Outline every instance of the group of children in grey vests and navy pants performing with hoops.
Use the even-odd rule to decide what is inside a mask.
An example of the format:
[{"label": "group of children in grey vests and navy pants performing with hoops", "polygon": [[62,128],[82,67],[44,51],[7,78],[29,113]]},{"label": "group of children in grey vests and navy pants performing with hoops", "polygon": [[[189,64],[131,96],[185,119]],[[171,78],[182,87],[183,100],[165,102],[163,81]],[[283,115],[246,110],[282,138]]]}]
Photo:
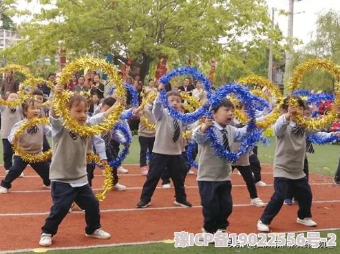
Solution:
[{"label": "group of children in grey vests and navy pants performing with hoops", "polygon": [[[55,85],[54,93],[63,91],[62,85]],[[165,89],[160,84],[158,89]],[[21,176],[28,165],[19,155],[14,155],[12,163],[12,148],[14,132],[25,121],[39,116],[46,116],[47,110],[41,107],[41,94],[36,92],[34,99],[25,100],[22,107],[1,107],[1,137],[3,138],[4,163],[8,173],[1,181],[0,193],[7,193],[12,182]],[[8,100],[17,99],[17,94],[8,94]],[[182,98],[177,91],[167,93],[167,99],[171,107],[178,112],[183,112]],[[264,212],[257,222],[259,231],[269,231],[269,224],[275,218],[285,200],[293,197],[299,204],[297,222],[306,226],[315,226],[311,217],[312,192],[308,184],[306,171],[306,137],[311,131],[305,130],[295,123],[295,114],[304,114],[305,105],[301,98],[296,98],[299,107],[288,105],[288,98],[284,100],[282,114],[274,125],[277,148],[274,162],[274,189],[272,198],[266,205]],[[80,125],[97,125],[111,112],[118,103],[126,103],[125,98],[109,96],[103,98],[94,109],[93,116],[89,117],[87,99],[79,94],[74,95],[67,107],[70,110],[70,118]],[[245,106],[246,107],[246,106]],[[231,173],[237,168],[244,181],[251,198],[251,204],[256,207],[264,207],[265,204],[257,196],[256,186],[265,186],[260,178],[260,166],[256,151],[249,150],[247,154],[239,158],[235,165],[215,155],[211,142],[206,134],[207,129],[213,128],[215,136],[228,151],[235,151],[242,139],[248,135],[247,127],[237,123],[233,111],[235,107],[231,100],[224,98],[219,105],[211,109],[213,118],[202,118],[199,122],[184,125],[180,120],[173,118],[164,108],[160,97],[145,105],[128,109],[134,115],[144,116],[150,124],[156,125],[156,130],[145,126],[140,122],[138,140],[140,143],[140,169],[147,176],[142,188],[140,201],[137,207],[142,209],[151,204],[151,198],[156,190],[160,178],[171,178],[175,189],[176,198],[174,204],[180,207],[192,207],[187,200],[185,191],[185,178],[190,169],[187,164],[185,147],[187,140],[182,134],[187,129],[193,130],[192,139],[198,143],[198,189],[202,204],[204,218],[202,231],[216,233],[226,231],[229,226],[229,215],[233,210],[231,197]],[[307,112],[307,111],[306,111]],[[339,111],[340,112],[340,111]],[[75,202],[85,211],[87,237],[108,239],[109,233],[103,231],[100,225],[99,202],[91,189],[94,177],[94,165],[87,161],[86,155],[96,152],[100,156],[102,165],[107,165],[109,160],[116,158],[119,145],[128,146],[126,139],[118,131],[108,131],[105,134],[84,138],[65,129],[63,119],[57,116],[51,107],[48,113],[50,125],[34,125],[27,129],[18,142],[23,151],[28,154],[39,154],[50,149],[46,136],[53,140],[52,160],[46,162],[30,163],[36,173],[43,180],[43,187],[51,189],[53,206],[50,215],[45,220],[41,230],[41,246],[50,246],[52,237],[58,231],[59,224]],[[125,123],[126,124],[126,123]],[[317,136],[340,136],[339,133],[326,134],[313,132]],[[47,144],[46,144],[47,143]],[[45,144],[45,145],[44,145]],[[306,148],[307,147],[307,148]],[[309,150],[309,149],[308,149]],[[149,168],[147,167],[147,152],[150,154]],[[12,153],[12,154],[11,154]],[[252,158],[253,156],[253,158]],[[78,158],[78,160],[74,160]],[[251,167],[251,164],[255,167]],[[253,170],[255,168],[256,170]],[[308,171],[307,171],[308,172]],[[117,168],[112,171],[114,175],[114,188],[125,189],[118,184]],[[307,175],[307,176],[306,176]]]}]

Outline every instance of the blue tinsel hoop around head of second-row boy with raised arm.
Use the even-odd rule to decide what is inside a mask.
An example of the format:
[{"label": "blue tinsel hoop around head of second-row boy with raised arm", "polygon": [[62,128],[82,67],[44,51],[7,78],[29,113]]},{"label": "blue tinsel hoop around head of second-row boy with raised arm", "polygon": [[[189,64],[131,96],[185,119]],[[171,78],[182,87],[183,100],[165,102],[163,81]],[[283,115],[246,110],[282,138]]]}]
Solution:
[{"label": "blue tinsel hoop around head of second-row boy with raised arm", "polygon": [[[211,83],[204,74],[198,72],[195,67],[180,67],[177,69],[168,72],[164,76],[160,78],[160,83],[167,84],[170,83],[171,79],[175,76],[192,76],[195,80],[201,81],[204,89],[206,90],[206,96],[208,100],[213,96],[213,90],[211,89]],[[160,101],[167,108],[171,117],[176,118],[183,123],[194,123],[201,116],[204,116],[209,109],[209,105],[202,105],[199,109],[197,109],[193,113],[182,114],[178,112],[176,109],[173,109],[168,102],[167,93],[164,89],[160,90]]]}]

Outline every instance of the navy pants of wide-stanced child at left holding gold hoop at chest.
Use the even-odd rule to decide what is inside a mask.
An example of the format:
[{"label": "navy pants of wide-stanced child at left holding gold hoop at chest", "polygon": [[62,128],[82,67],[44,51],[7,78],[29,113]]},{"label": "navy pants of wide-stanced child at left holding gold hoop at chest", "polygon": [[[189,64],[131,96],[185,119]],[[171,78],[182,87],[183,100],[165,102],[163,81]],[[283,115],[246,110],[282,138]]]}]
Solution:
[{"label": "navy pants of wide-stanced child at left holding gold hoop at chest", "polygon": [[[1,186],[10,189],[12,182],[19,178],[28,164],[29,163],[22,160],[21,157],[14,156],[13,166],[8,171],[6,178],[1,181]],[[41,179],[43,179],[43,184],[50,186],[50,165],[47,162],[30,163],[30,165]]]}]

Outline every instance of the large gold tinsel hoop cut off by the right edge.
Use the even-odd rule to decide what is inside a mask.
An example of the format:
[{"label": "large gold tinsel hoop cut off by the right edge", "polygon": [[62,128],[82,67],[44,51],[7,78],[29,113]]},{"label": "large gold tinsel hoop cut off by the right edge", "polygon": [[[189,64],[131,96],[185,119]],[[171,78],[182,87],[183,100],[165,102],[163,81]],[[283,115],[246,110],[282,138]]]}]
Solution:
[{"label": "large gold tinsel hoop cut off by the right edge", "polygon": [[[288,90],[293,94],[295,89],[299,87],[302,79],[310,70],[324,70],[328,72],[334,78],[334,102],[330,111],[323,118],[311,118],[306,119],[301,116],[301,114],[295,114],[293,119],[305,127],[306,129],[323,129],[337,121],[337,112],[335,109],[340,107],[340,67],[335,63],[323,59],[310,59],[295,67],[292,77],[290,78],[290,83],[288,84]],[[290,98],[290,105],[297,105],[294,98]]]}]

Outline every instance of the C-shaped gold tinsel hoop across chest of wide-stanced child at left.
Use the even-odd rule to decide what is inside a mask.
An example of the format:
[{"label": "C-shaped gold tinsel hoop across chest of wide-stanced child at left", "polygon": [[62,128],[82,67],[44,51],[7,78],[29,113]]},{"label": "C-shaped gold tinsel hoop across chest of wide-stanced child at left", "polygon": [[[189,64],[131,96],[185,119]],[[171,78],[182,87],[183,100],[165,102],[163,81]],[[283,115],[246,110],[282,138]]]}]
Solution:
[{"label": "C-shaped gold tinsel hoop across chest of wide-stanced child at left", "polygon": [[51,158],[52,150],[48,150],[45,152],[41,152],[39,154],[28,154],[28,152],[23,151],[19,146],[19,138],[25,131],[25,129],[32,127],[34,125],[49,125],[50,120],[48,118],[33,118],[28,120],[27,122],[22,123],[19,128],[14,132],[14,140],[13,140],[13,150],[15,154],[20,156],[25,162],[28,163],[36,163],[36,162],[43,162],[47,159]]}]

